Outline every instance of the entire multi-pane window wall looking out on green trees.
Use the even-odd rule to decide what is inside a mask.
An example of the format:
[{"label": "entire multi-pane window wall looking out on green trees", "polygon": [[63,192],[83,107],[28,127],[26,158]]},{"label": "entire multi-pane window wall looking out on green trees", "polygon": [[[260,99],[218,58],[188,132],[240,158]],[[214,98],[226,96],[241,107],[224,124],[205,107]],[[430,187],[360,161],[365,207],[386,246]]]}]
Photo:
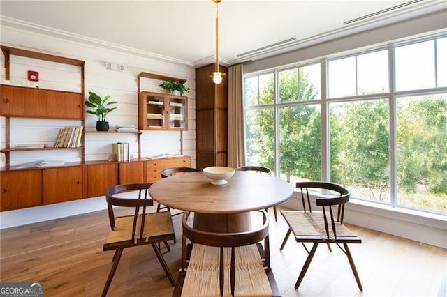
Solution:
[{"label": "entire multi-pane window wall looking out on green trees", "polygon": [[447,37],[436,36],[249,75],[247,164],[447,213],[446,65]]}]

